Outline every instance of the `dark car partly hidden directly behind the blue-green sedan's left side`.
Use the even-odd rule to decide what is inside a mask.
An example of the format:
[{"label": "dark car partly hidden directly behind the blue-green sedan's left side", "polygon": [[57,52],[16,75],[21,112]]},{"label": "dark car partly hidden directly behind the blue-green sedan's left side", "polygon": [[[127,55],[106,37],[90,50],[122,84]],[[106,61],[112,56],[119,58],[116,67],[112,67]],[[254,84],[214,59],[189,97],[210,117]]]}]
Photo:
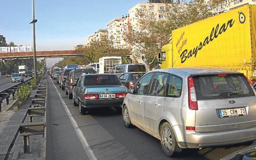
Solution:
[{"label": "dark car partly hidden directly behind the blue-green sedan's left side", "polygon": [[74,69],[69,73],[69,76],[66,79],[66,95],[68,95],[69,99],[72,99],[73,95],[72,95],[72,91],[73,91],[73,82],[75,82],[77,80],[77,78],[81,75],[81,74],[94,74],[96,73],[95,70],[93,69]]}]

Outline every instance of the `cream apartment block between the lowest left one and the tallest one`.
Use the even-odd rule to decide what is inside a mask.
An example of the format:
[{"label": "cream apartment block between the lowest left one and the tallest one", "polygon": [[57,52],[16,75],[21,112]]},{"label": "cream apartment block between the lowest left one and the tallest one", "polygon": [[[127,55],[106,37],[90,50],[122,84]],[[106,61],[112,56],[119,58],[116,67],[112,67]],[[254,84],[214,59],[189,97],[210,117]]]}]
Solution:
[{"label": "cream apartment block between the lowest left one and the tallest one", "polygon": [[115,18],[106,24],[108,27],[108,39],[113,41],[114,48],[120,47],[120,21],[121,18]]}]

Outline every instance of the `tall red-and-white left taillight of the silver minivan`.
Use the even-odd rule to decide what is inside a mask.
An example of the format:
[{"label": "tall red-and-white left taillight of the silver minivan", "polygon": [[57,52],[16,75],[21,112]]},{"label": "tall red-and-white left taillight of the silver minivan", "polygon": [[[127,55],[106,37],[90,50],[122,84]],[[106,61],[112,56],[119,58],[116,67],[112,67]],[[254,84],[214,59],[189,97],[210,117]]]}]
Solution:
[{"label": "tall red-and-white left taillight of the silver minivan", "polygon": [[189,76],[187,79],[188,79],[188,108],[190,110],[198,110],[197,96],[196,96],[193,77]]}]

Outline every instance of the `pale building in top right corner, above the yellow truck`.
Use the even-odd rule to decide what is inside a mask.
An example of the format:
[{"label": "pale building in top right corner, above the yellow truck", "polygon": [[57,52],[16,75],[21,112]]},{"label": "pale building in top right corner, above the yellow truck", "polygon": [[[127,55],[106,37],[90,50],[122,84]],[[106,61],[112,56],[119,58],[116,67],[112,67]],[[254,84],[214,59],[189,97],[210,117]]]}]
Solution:
[{"label": "pale building in top right corner, above the yellow truck", "polygon": [[219,14],[248,4],[256,5],[256,0],[223,0],[215,12]]}]

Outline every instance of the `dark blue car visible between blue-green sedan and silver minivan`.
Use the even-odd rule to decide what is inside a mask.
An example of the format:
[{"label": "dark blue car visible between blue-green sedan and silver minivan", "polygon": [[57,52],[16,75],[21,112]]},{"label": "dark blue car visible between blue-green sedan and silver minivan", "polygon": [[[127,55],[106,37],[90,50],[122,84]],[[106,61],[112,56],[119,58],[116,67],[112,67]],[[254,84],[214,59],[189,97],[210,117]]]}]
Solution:
[{"label": "dark blue car visible between blue-green sedan and silver minivan", "polygon": [[127,72],[122,74],[119,77],[119,80],[123,84],[123,86],[127,88],[133,88],[133,86],[136,84],[136,82],[144,75],[146,72]]}]

